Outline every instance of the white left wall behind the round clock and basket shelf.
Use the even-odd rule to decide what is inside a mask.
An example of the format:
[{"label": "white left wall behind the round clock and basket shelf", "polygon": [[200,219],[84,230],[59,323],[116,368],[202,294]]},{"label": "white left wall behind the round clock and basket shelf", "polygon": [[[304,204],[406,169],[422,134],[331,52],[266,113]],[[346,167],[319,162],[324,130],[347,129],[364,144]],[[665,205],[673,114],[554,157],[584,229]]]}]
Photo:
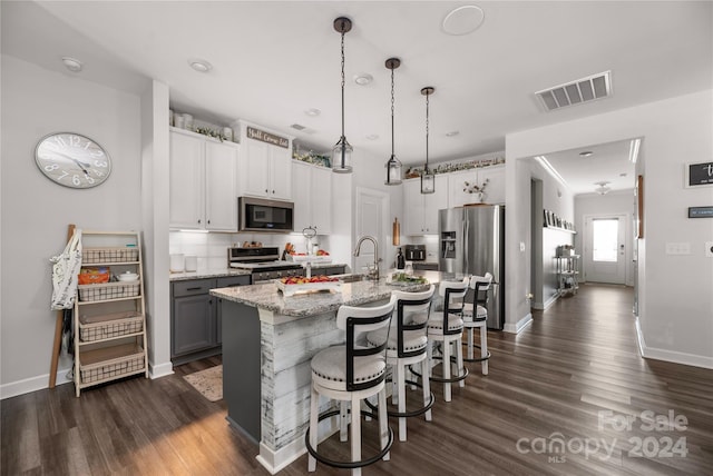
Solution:
[{"label": "white left wall behind the round clock and basket shelf", "polygon": [[[140,99],[2,56],[2,304],[0,396],[48,385],[56,313],[49,258],[67,226],[140,229]],[[46,135],[84,133],[114,160],[101,186],[75,190],[38,170],[33,151]],[[71,360],[62,358],[57,381]]]}]

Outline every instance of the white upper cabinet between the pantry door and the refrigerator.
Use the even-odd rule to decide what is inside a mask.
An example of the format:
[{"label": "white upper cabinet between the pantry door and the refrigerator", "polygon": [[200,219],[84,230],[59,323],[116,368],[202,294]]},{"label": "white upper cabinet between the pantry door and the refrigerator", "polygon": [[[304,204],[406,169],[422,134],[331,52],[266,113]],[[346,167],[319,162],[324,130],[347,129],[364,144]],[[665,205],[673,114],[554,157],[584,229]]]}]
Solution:
[{"label": "white upper cabinet between the pantry door and the refrigerator", "polygon": [[436,176],[436,191],[421,194],[421,179],[403,181],[403,234],[438,234],[438,210],[448,208],[448,177]]}]

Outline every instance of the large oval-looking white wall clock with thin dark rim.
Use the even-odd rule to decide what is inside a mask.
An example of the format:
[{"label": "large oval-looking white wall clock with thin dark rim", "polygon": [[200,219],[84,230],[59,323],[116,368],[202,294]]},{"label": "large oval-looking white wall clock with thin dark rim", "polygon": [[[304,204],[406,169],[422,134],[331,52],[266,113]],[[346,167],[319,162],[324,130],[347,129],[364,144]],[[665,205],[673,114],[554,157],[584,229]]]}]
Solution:
[{"label": "large oval-looking white wall clock with thin dark rim", "polygon": [[35,161],[53,182],[91,188],[111,173],[111,158],[94,140],[74,132],[50,133],[35,149]]}]

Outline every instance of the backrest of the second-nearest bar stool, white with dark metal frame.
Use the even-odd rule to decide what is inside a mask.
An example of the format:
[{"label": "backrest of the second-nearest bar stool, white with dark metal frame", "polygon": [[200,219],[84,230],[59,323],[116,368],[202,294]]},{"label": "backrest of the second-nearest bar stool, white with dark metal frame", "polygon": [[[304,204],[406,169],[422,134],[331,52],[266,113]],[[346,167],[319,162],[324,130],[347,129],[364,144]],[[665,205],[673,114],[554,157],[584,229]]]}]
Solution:
[{"label": "backrest of the second-nearest bar stool, white with dark metal frame", "polygon": [[[426,347],[407,351],[404,349],[404,333],[421,331],[426,336],[433,292],[436,292],[436,285],[431,285],[427,290],[420,292],[394,290],[391,294],[397,298],[394,313],[397,315],[397,355],[399,358],[412,357],[426,351]],[[417,315],[421,315],[421,318],[413,319]]]}]

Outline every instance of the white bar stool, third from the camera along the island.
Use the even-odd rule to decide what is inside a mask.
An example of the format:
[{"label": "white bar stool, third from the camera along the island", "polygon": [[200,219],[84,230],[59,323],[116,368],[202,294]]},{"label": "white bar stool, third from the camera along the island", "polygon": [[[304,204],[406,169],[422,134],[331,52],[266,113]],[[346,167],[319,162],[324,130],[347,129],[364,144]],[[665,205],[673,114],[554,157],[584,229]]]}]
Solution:
[{"label": "white bar stool, third from the camera along the island", "polygon": [[[460,387],[466,386],[466,377],[468,369],[463,366],[463,349],[461,340],[463,337],[463,301],[470,276],[466,276],[462,281],[441,281],[438,287],[438,294],[442,297],[442,310],[431,310],[428,319],[428,359],[432,360],[433,345],[440,344],[443,359],[443,376],[433,377],[432,364],[429,365],[432,381],[443,383],[443,398],[446,401],[451,399],[450,384],[458,381]],[[451,345],[456,349],[456,375],[451,377]]]}]

